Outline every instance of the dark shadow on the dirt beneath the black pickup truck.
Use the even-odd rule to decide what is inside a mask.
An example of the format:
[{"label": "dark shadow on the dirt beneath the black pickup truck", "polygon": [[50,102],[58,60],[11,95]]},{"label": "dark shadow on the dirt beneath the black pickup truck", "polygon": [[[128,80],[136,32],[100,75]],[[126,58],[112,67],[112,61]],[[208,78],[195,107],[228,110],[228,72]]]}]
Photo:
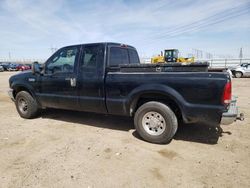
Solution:
[{"label": "dark shadow on the dirt beneath the black pickup truck", "polygon": [[[133,119],[123,116],[109,116],[87,112],[47,109],[43,111],[41,117],[45,119],[54,119],[112,130],[134,130]],[[137,139],[141,139],[136,131],[133,131],[132,134]],[[223,134],[231,133],[223,132],[221,128],[211,128],[199,124],[181,124],[179,125],[177,133],[174,136],[174,140],[183,140],[212,145],[216,144],[219,140],[219,137],[222,137]]]}]

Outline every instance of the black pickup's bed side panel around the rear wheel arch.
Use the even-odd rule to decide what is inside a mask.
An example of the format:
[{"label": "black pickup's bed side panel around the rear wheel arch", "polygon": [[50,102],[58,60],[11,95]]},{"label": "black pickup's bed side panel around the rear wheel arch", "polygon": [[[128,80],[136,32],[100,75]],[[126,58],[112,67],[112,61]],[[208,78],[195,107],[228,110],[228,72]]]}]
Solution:
[{"label": "black pickup's bed side panel around the rear wheel arch", "polygon": [[154,100],[159,100],[157,95],[160,94],[178,105],[186,123],[217,126],[226,110],[221,104],[221,96],[228,79],[223,73],[109,72],[106,77],[108,112],[133,115],[133,103],[140,96],[150,93],[155,95]]}]

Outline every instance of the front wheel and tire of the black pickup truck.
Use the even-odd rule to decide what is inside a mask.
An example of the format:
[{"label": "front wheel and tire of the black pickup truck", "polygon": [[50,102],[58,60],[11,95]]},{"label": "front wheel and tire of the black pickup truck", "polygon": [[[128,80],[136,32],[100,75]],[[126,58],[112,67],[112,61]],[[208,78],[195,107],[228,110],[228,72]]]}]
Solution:
[{"label": "front wheel and tire of the black pickup truck", "polygon": [[40,112],[37,101],[27,91],[17,93],[15,104],[17,112],[25,119],[35,118]]}]

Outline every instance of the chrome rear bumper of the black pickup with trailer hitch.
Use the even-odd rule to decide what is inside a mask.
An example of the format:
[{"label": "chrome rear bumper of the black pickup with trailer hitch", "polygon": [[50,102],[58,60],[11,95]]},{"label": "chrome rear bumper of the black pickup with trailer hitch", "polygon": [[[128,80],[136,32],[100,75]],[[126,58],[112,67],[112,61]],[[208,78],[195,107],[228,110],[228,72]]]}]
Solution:
[{"label": "chrome rear bumper of the black pickup with trailer hitch", "polygon": [[244,120],[244,114],[242,113],[239,114],[236,103],[237,103],[237,98],[233,97],[228,111],[222,114],[222,118],[221,118],[222,125],[230,125],[236,120],[241,120],[241,121]]}]

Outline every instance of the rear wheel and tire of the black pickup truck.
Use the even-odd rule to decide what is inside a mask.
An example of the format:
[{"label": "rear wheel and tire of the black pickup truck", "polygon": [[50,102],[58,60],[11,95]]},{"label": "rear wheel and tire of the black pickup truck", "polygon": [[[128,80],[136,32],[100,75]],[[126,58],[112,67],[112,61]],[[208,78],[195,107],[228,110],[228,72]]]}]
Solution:
[{"label": "rear wheel and tire of the black pickup truck", "polygon": [[[155,116],[159,115],[159,119],[153,117],[154,116],[153,114]],[[153,118],[152,120],[153,123],[151,123],[152,118]],[[161,121],[162,118],[164,120]],[[145,123],[147,119],[150,119],[148,120],[149,125],[146,125],[147,122]],[[156,121],[154,119],[156,119]],[[163,122],[165,123],[165,125]],[[156,123],[157,123],[156,127],[153,128],[150,127],[151,126],[150,124],[155,125]],[[155,101],[147,102],[139,107],[139,109],[135,113],[134,124],[136,131],[144,140],[157,144],[169,143],[172,140],[178,128],[178,121],[174,112],[167,105]],[[161,125],[164,125],[164,127],[161,127]],[[154,131],[156,130],[157,130],[156,132],[157,135],[154,135]]]}]

